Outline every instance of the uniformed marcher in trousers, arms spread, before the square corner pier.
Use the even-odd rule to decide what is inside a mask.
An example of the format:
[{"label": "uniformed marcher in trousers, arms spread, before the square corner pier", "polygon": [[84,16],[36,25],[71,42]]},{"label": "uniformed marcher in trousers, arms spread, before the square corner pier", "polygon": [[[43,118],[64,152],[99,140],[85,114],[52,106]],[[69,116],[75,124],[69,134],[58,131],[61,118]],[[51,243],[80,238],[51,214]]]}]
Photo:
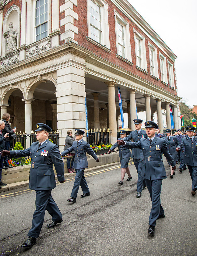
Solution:
[{"label": "uniformed marcher in trousers, arms spread, before the square corner pier", "polygon": [[86,152],[91,155],[96,162],[99,162],[99,158],[94,153],[93,149],[90,147],[90,144],[87,141],[83,140],[83,134],[85,132],[79,129],[75,129],[75,139],[72,146],[61,153],[62,156],[67,155],[68,153],[75,151],[75,160],[74,160],[74,168],[76,171],[75,183],[72,188],[71,198],[68,199],[68,202],[75,203],[77,193],[79,190],[79,186],[83,191],[83,195],[81,197],[86,197],[90,195],[90,190],[88,188],[88,184],[86,182],[86,178],[84,176],[84,170],[88,167],[88,160],[86,157]]}]

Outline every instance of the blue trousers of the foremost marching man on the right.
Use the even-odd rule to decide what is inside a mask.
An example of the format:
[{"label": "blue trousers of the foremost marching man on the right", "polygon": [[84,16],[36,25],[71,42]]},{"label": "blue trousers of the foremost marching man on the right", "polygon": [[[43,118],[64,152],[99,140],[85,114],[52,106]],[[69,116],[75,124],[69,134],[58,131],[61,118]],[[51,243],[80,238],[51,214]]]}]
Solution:
[{"label": "blue trousers of the foremost marching man on the right", "polygon": [[150,199],[152,201],[152,208],[149,216],[149,225],[155,226],[156,220],[159,217],[159,215],[164,214],[164,209],[161,206],[160,199],[162,180],[145,179],[145,181],[148,191],[150,193]]}]

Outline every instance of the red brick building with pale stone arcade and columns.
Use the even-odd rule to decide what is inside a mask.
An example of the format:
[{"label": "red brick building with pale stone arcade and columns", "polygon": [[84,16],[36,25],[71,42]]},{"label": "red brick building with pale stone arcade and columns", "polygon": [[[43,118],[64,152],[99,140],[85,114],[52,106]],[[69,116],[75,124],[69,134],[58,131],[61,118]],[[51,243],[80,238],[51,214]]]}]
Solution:
[{"label": "red brick building with pale stone arcade and columns", "polygon": [[38,122],[59,130],[109,128],[120,115],[180,123],[176,55],[126,0],[1,0],[0,105],[12,126],[30,133]]}]

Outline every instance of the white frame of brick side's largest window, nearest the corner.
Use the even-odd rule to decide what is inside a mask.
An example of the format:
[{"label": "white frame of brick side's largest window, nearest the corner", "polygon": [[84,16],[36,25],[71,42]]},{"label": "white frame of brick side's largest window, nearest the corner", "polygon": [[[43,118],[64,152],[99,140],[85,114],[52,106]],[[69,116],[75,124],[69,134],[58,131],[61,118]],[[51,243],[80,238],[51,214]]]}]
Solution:
[{"label": "white frame of brick side's largest window, nearest the corner", "polygon": [[[108,23],[108,4],[104,0],[93,0],[100,6],[100,16],[101,16],[101,43],[95,41],[91,38],[91,26],[90,26],[90,0],[87,0],[87,23],[88,23],[88,37],[87,40],[100,46],[104,50],[110,49],[109,41],[109,23]],[[103,46],[103,47],[102,47]],[[110,50],[111,52],[111,50]]]}]

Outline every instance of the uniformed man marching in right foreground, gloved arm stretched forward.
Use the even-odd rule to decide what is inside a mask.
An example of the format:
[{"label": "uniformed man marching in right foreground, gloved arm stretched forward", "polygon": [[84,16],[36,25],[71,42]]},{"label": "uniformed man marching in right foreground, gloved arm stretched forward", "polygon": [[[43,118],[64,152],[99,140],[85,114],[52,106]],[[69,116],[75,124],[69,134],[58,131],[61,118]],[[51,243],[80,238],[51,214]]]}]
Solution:
[{"label": "uniformed man marching in right foreground, gloved arm stretched forward", "polygon": [[165,157],[173,166],[173,170],[176,169],[176,164],[167,149],[165,140],[155,137],[155,129],[158,127],[157,124],[153,121],[146,121],[145,126],[148,138],[141,138],[138,142],[126,142],[124,140],[118,140],[117,142],[119,145],[125,144],[125,146],[129,148],[142,149],[142,177],[146,181],[152,201],[148,233],[150,235],[154,235],[157,219],[165,217],[164,209],[160,203],[162,180],[166,179],[166,171],[162,161],[162,154],[164,153]]}]

